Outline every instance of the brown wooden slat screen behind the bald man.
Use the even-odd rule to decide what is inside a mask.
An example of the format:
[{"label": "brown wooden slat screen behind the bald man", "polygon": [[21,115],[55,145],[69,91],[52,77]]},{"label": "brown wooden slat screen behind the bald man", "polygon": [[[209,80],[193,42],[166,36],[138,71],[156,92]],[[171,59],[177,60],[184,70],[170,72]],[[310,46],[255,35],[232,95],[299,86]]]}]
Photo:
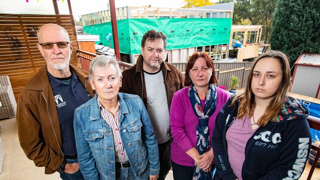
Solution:
[{"label": "brown wooden slat screen behind the bald man", "polygon": [[36,33],[44,24],[64,27],[73,43],[70,63],[80,67],[72,15],[0,14],[0,76],[8,75],[17,99],[30,78],[45,64],[36,47]]}]

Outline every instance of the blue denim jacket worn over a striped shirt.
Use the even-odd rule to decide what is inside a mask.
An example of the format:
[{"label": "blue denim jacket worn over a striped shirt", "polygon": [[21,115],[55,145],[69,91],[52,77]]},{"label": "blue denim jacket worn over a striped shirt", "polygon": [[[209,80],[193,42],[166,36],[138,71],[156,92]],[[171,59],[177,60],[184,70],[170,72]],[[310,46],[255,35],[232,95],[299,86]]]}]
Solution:
[{"label": "blue denim jacket worn over a striped shirt", "polygon": [[[133,94],[118,93],[120,132],[131,168],[138,179],[145,170],[150,175],[160,171],[159,150],[149,115],[142,99]],[[115,180],[113,133],[102,119],[97,94],[74,112],[74,133],[80,170],[86,180]]]}]

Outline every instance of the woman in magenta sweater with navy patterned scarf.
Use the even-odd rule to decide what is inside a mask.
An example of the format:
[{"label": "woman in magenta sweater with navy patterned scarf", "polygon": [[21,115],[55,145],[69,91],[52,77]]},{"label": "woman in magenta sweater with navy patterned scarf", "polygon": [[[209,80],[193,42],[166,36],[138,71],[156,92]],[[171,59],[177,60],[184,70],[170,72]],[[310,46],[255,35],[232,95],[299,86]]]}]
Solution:
[{"label": "woman in magenta sweater with navy patterned scarf", "polygon": [[185,85],[172,98],[170,129],[174,180],[212,180],[211,137],[216,117],[229,93],[218,83],[211,58],[194,53],[186,65]]}]

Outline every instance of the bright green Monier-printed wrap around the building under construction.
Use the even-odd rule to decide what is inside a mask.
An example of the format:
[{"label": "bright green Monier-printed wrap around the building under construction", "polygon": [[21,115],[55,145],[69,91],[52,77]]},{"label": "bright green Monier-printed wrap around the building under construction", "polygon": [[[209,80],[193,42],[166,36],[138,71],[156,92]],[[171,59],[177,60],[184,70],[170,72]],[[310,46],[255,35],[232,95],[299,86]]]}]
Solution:
[{"label": "bright green Monier-printed wrap around the building under construction", "polygon": [[[148,30],[162,31],[167,35],[167,50],[227,44],[230,40],[231,18],[186,19],[124,19],[117,21],[120,52],[139,54],[141,39]],[[99,35],[96,44],[108,46],[106,39],[112,33],[111,22],[85,26],[86,34]],[[113,40],[110,40],[111,48]]]}]

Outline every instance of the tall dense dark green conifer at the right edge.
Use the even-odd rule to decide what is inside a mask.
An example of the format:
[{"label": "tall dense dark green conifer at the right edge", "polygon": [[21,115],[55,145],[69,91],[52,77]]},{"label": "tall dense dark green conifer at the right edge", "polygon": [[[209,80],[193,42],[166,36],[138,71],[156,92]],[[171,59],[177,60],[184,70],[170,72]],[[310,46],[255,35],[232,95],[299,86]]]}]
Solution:
[{"label": "tall dense dark green conifer at the right edge", "polygon": [[302,51],[320,53],[320,0],[279,0],[271,49],[285,53],[292,67]]}]

